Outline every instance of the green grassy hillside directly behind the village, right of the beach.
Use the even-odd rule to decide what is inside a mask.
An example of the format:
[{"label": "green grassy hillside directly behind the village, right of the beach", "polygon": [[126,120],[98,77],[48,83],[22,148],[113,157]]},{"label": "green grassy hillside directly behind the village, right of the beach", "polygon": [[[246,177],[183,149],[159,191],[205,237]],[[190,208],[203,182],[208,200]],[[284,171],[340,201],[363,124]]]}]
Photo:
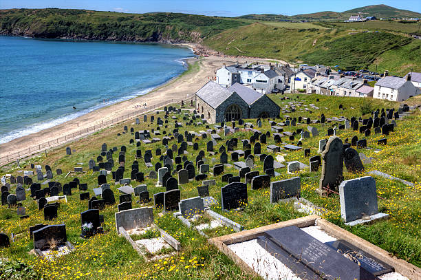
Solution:
[{"label": "green grassy hillside directly behind the village, right of the beach", "polygon": [[[281,24],[288,26],[288,23]],[[262,22],[225,30],[205,39],[204,44],[233,56],[340,65],[341,69],[371,68],[373,63],[380,63],[381,69],[404,75],[411,68],[421,71],[418,41],[388,32],[349,34],[345,28],[298,29],[274,27],[272,23]]]}]

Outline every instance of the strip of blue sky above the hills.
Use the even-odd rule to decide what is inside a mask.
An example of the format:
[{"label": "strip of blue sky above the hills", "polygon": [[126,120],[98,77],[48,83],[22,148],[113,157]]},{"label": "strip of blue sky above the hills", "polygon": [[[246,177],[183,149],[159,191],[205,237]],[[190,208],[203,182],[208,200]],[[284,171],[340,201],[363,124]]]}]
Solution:
[{"label": "strip of blue sky above the hills", "polygon": [[[421,0],[384,0],[387,6],[421,12]],[[116,12],[184,12],[236,17],[242,14],[305,14],[325,10],[343,12],[380,4],[369,0],[1,0],[0,9],[76,8]]]}]

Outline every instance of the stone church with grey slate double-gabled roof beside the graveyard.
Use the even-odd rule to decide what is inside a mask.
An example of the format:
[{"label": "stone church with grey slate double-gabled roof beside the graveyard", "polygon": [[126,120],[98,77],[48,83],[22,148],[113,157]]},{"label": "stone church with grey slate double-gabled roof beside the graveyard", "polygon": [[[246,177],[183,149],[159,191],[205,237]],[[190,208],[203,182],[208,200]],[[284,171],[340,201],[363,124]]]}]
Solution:
[{"label": "stone church with grey slate double-gabled roof beside the graveyard", "polygon": [[268,96],[235,83],[223,87],[213,80],[196,92],[196,110],[207,122],[275,118],[281,108]]}]

